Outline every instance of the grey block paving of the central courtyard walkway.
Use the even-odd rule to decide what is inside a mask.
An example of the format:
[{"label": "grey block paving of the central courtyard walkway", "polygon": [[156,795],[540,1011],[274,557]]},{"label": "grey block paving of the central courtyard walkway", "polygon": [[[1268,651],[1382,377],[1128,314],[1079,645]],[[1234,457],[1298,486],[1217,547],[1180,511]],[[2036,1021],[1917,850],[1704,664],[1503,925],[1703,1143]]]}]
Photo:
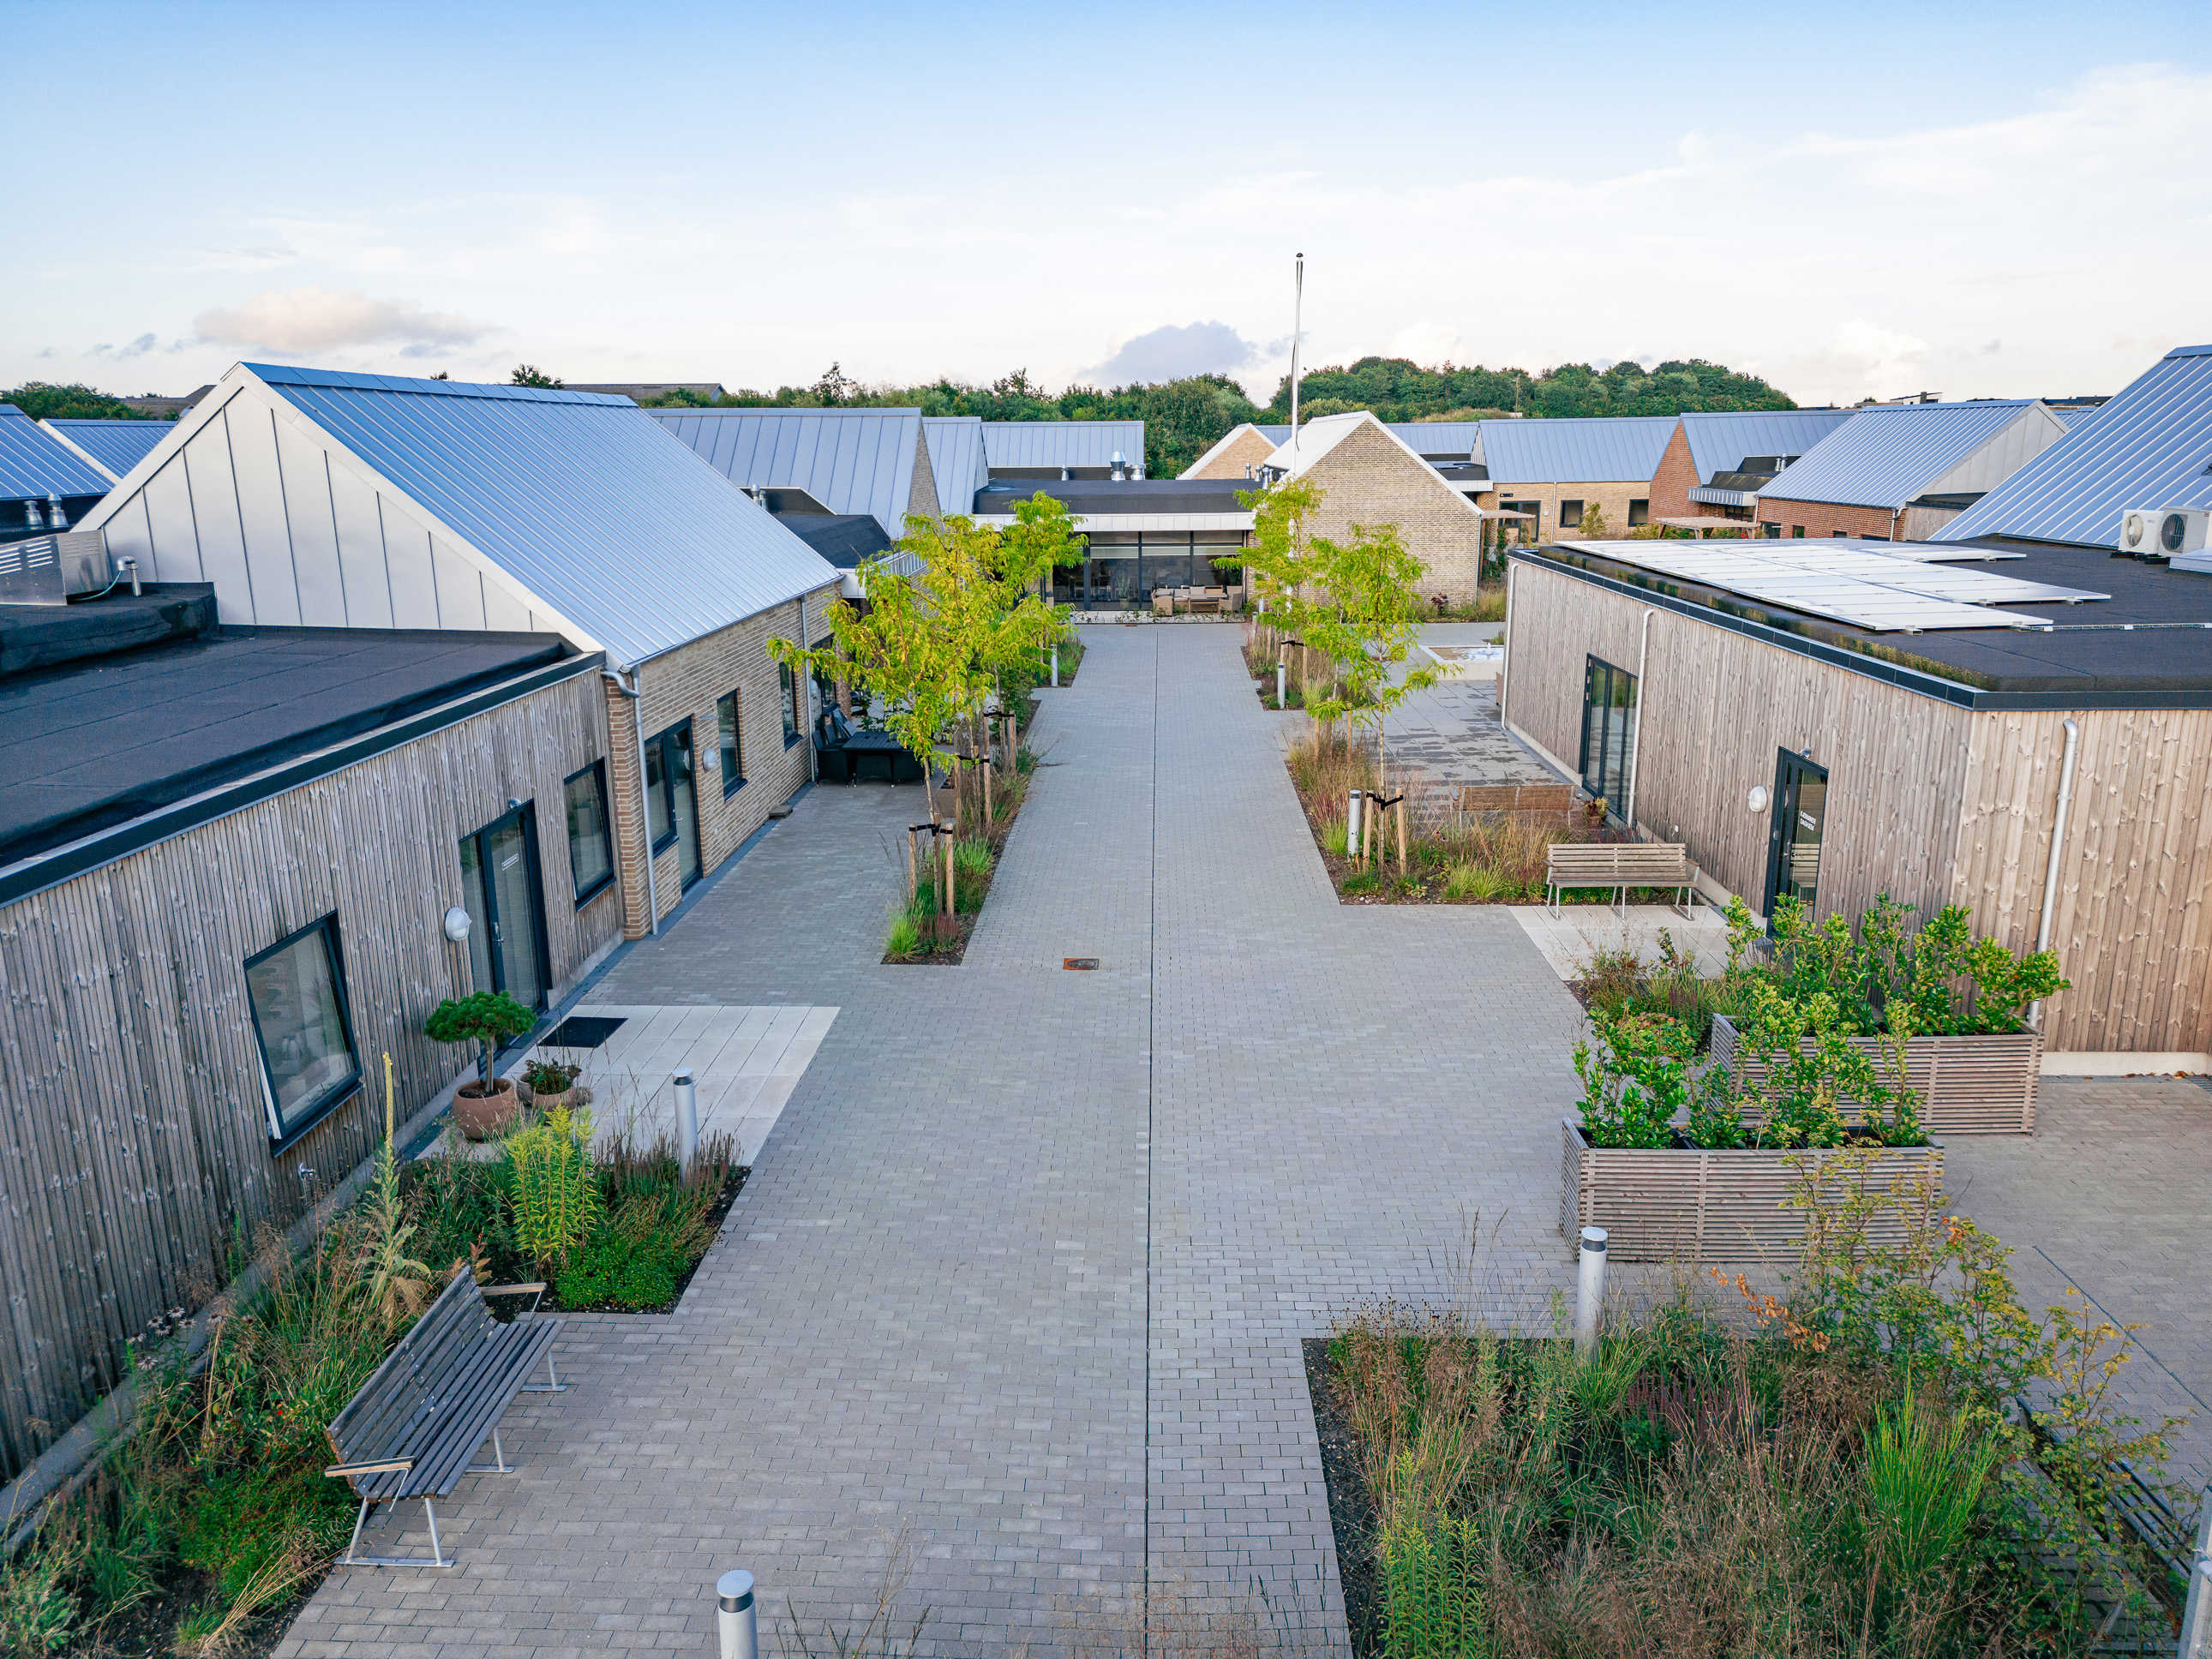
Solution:
[{"label": "grey block paving of the central courtyard walkway", "polygon": [[[522,1473],[440,1511],[460,1568],[332,1575],[281,1655],[712,1652],[730,1566],[774,1641],[865,1617],[894,1540],[927,1652],[1135,1650],[1144,1586],[1343,1646],[1298,1343],[1383,1294],[1548,1318],[1579,1011],[1506,909],[1334,902],[1234,628],[1086,641],[964,967],[878,964],[918,792],[832,785],[593,989],[836,1015],[681,1307],[568,1321]],[[2212,1095],[2051,1095],[1953,1168],[2188,1374]],[[2192,1152],[2068,1157],[2115,1126]]]}]

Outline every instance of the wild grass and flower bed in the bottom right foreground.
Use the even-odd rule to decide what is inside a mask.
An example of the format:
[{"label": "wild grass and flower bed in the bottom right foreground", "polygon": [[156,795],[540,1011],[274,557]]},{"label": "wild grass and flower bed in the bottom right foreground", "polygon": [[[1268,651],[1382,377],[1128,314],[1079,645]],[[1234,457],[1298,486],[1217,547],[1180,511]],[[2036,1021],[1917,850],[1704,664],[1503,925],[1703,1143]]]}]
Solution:
[{"label": "wild grass and flower bed in the bottom right foreground", "polygon": [[2128,1489],[2172,1425],[2112,1405],[2128,1332],[2026,1310],[2008,1252],[1940,1201],[1891,1245],[1878,1206],[1796,1201],[1818,1214],[1781,1294],[1679,1285],[1593,1358],[1564,1310],[1535,1340],[1389,1305],[1336,1329],[1316,1363],[1356,1447],[1332,1482],[1358,1486],[1338,1548],[1363,1659],[2004,1659],[2170,1632],[2174,1540],[2135,1531]]}]

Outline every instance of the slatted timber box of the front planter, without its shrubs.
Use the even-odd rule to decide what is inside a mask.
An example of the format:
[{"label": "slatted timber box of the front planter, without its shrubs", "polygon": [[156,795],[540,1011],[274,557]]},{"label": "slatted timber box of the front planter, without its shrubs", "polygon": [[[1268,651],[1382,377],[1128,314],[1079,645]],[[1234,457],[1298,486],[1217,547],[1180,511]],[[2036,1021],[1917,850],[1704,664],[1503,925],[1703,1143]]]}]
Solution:
[{"label": "slatted timber box of the front planter, without its shrubs", "polygon": [[[1559,1170],[1559,1232],[1573,1243],[1584,1228],[1606,1230],[1613,1261],[1792,1261],[1805,1234],[1805,1212],[1785,1203],[1796,1188],[1792,1159],[1832,1159],[1832,1150],[1730,1150],[1590,1146],[1573,1117],[1562,1119],[1566,1157]],[[1929,1181],[1942,1192],[1942,1141],[1882,1146],[1867,1168],[1871,1183]],[[1869,1243],[1905,1243],[1905,1221],[1880,1214]]]}]

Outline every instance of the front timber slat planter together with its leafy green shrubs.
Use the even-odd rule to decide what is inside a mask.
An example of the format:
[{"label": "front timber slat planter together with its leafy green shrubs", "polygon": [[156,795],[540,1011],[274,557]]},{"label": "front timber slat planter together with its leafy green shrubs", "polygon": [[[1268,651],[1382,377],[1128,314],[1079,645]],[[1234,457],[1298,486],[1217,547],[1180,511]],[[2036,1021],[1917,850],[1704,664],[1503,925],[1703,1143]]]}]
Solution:
[{"label": "front timber slat planter together with its leafy green shrubs", "polygon": [[1896,1044],[1869,1055],[1834,998],[1763,984],[1743,989],[1741,1018],[1745,1046],[1770,1064],[1756,1097],[1730,1066],[1692,1073],[1679,1020],[1593,1015],[1595,1042],[1575,1044],[1582,1119],[1562,1124],[1568,1239],[1597,1225],[1617,1261],[1759,1263],[1796,1250],[1794,1192],[1940,1190],[1942,1144],[1920,1130]]}]

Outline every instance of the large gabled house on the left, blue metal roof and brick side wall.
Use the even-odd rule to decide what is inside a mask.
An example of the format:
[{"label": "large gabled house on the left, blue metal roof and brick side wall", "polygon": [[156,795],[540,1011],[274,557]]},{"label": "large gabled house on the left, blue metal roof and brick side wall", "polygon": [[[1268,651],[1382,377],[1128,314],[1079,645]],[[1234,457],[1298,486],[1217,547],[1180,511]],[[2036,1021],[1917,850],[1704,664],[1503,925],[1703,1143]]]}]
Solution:
[{"label": "large gabled house on the left, blue metal roof and brick side wall", "polygon": [[[84,529],[210,582],[228,624],[604,653],[630,938],[812,776],[810,688],[768,639],[821,637],[838,571],[628,398],[241,363]],[[458,902],[458,865],[427,880]]]}]

